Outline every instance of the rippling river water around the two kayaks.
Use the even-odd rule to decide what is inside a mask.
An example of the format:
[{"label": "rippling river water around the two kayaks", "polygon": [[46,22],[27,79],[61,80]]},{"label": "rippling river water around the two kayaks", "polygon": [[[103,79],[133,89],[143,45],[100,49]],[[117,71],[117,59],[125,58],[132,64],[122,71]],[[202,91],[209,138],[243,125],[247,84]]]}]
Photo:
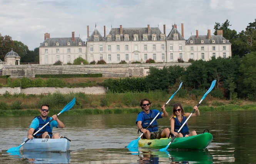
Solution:
[{"label": "rippling river water around the two kayaks", "polygon": [[[208,129],[212,143],[204,151],[159,149],[127,149],[137,139],[135,124],[137,113],[100,115],[60,115],[64,129],[54,129],[71,140],[70,151],[25,152],[9,154],[6,151],[22,144],[27,136],[32,116],[0,117],[1,163],[87,163],[87,164],[255,164],[256,163],[256,111],[201,112],[190,118],[189,130],[197,134]],[[169,127],[168,118],[158,120],[159,128]]]}]

